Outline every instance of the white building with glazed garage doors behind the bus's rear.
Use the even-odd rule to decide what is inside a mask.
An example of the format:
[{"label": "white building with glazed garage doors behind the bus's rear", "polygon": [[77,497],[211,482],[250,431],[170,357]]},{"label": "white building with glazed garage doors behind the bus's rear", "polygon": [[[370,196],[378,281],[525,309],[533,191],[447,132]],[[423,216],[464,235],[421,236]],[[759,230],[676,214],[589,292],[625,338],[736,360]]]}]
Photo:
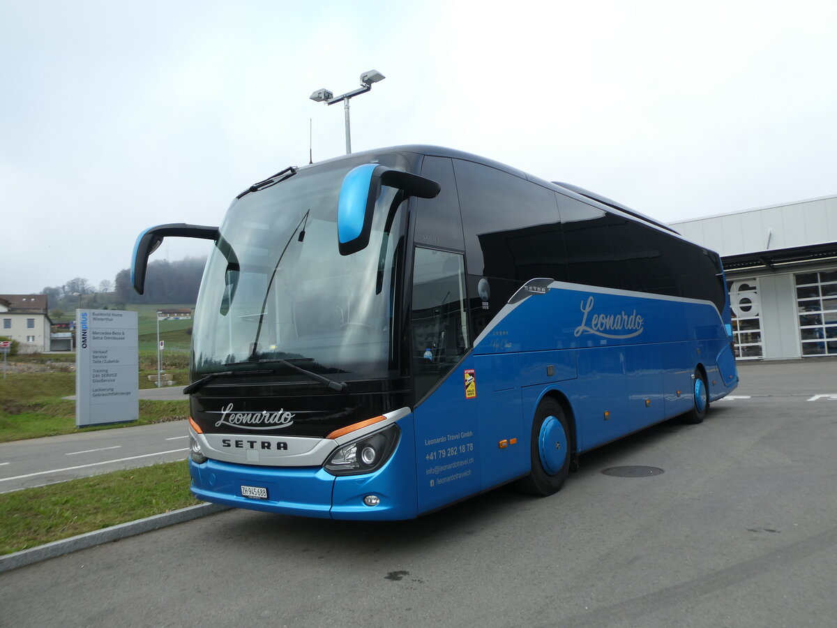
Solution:
[{"label": "white building with glazed garage doors behind the bus's rear", "polygon": [[837,196],[671,226],[721,255],[737,358],[837,356]]}]

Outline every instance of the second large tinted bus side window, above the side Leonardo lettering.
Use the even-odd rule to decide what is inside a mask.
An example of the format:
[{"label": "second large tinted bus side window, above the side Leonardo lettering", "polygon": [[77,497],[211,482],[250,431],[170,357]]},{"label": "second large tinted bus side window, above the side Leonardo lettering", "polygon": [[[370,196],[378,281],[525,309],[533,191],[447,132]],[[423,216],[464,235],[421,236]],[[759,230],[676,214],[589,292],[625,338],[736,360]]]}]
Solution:
[{"label": "second large tinted bus side window, above the side Leonardo lettering", "polygon": [[557,194],[557,201],[567,246],[569,281],[622,288],[622,279],[614,272],[616,253],[608,214],[563,194]]}]

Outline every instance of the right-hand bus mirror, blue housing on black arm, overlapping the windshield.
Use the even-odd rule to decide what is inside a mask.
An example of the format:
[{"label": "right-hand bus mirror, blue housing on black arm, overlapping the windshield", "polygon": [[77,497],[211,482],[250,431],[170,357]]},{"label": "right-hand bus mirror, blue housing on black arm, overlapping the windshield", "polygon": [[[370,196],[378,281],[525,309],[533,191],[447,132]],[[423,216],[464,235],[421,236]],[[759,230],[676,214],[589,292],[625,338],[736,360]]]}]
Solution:
[{"label": "right-hand bus mirror, blue housing on black arm, overlapping the windshield", "polygon": [[337,247],[340,255],[352,255],[369,244],[372,214],[381,186],[398,188],[408,196],[434,198],[439,183],[409,172],[375,163],[352,168],[343,178],[337,201]]}]

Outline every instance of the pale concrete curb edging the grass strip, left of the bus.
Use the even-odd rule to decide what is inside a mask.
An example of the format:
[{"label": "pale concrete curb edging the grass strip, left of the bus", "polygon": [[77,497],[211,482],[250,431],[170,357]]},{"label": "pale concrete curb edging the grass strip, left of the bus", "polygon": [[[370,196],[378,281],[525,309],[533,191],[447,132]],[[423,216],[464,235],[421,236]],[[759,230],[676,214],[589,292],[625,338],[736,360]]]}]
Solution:
[{"label": "pale concrete curb edging the grass strip, left of the bus", "polygon": [[37,548],[23,549],[20,552],[0,556],[0,574],[4,571],[18,569],[18,567],[23,567],[24,565],[39,563],[42,560],[54,559],[58,556],[63,556],[65,553],[77,552],[80,549],[92,548],[102,543],[133,537],[136,534],[166,528],[167,526],[173,526],[175,523],[191,521],[192,519],[206,517],[207,515],[224,510],[229,510],[229,506],[202,503],[197,506],[190,506],[172,512],[164,512],[162,515],[153,515],[137,521],[120,523],[118,526],[80,534],[77,537],[64,538],[53,543],[39,545]]}]

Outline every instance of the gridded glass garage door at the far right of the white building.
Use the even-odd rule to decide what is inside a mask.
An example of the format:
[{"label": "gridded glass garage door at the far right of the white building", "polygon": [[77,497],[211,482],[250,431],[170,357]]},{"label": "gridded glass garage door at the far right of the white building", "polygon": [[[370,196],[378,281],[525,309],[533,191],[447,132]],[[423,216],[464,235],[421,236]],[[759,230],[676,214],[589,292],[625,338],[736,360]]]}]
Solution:
[{"label": "gridded glass garage door at the far right of the white building", "polygon": [[837,355],[837,270],[793,276],[803,356]]}]

